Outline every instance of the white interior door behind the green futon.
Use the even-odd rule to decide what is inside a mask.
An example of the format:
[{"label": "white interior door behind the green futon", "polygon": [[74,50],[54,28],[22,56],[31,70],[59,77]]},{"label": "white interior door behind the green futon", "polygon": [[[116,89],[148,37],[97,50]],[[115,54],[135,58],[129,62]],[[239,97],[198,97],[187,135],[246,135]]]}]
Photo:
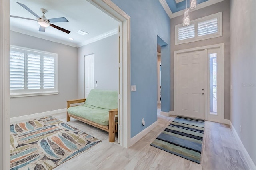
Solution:
[{"label": "white interior door behind the green futon", "polygon": [[94,89],[94,54],[84,56],[84,97]]}]

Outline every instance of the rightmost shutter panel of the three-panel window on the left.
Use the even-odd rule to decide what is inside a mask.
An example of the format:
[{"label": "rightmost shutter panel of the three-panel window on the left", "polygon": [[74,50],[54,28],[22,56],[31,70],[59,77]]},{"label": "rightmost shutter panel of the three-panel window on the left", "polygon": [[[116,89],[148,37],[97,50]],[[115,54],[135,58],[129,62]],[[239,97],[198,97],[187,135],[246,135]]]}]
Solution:
[{"label": "rightmost shutter panel of the three-panel window on the left", "polygon": [[44,89],[54,89],[54,58],[44,56]]}]

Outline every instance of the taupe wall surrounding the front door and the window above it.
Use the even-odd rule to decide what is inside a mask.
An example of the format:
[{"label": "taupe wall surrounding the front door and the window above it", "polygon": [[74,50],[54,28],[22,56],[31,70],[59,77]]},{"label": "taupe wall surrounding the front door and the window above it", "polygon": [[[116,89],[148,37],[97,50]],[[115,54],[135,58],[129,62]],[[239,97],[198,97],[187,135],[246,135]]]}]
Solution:
[{"label": "taupe wall surrounding the front door and the window above it", "polygon": [[175,25],[182,23],[182,17],[171,19],[171,108],[174,106],[174,51],[224,43],[224,119],[230,119],[230,1],[225,0],[190,12],[190,20],[222,12],[222,37],[175,45]]}]

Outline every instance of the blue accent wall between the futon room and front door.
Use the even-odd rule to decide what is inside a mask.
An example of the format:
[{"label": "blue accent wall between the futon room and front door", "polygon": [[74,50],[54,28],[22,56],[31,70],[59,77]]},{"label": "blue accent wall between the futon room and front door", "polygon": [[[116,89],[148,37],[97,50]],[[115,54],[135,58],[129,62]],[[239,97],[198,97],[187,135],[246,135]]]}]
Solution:
[{"label": "blue accent wall between the futon room and front door", "polygon": [[[157,121],[157,43],[162,47],[162,110],[170,111],[170,18],[158,0],[112,0],[131,17],[131,138]],[[163,95],[164,96],[164,95]],[[146,123],[142,126],[142,118]]]}]

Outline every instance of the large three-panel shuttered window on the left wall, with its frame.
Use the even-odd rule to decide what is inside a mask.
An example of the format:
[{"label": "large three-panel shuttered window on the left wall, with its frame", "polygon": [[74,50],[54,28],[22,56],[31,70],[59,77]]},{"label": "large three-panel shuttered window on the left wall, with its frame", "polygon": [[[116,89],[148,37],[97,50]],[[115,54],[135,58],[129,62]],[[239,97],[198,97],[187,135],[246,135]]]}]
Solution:
[{"label": "large three-panel shuttered window on the left wall, with its frame", "polygon": [[11,46],[11,97],[57,94],[57,65],[55,53]]}]

